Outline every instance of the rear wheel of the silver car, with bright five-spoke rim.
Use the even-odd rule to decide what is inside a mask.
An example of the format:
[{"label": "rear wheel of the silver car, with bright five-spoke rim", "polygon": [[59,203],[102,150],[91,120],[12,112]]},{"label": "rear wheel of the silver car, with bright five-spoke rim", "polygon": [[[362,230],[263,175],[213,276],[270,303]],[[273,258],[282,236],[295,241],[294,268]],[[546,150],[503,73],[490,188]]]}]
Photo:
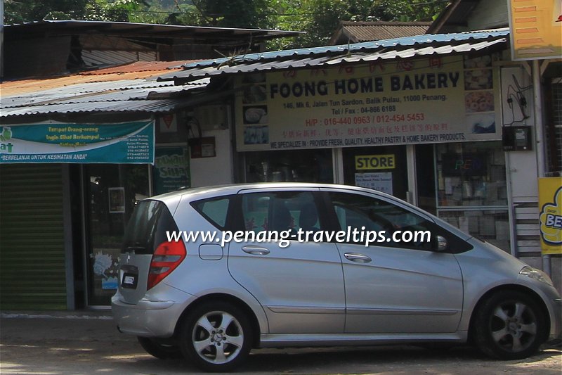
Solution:
[{"label": "rear wheel of the silver car, with bright five-spoke rim", "polygon": [[233,304],[209,302],[195,307],[179,337],[183,355],[204,371],[231,371],[251,349],[252,329],[244,312]]}]

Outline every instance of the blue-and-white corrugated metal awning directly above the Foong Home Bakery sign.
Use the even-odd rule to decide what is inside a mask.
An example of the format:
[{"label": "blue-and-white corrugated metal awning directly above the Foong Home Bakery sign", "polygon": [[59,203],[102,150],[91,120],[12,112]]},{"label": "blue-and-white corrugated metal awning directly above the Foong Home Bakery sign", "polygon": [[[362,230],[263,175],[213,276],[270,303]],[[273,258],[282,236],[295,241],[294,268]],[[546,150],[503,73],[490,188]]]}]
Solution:
[{"label": "blue-and-white corrugated metal awning directly above the Foong Home Bakery sign", "polygon": [[311,68],[322,65],[369,62],[379,59],[479,51],[490,46],[507,43],[508,35],[509,30],[419,35],[417,37],[351,44],[349,48],[346,45],[275,51],[235,58],[233,59],[236,62],[235,65],[230,66],[224,60],[191,63],[184,66],[185,70],[162,75],[158,80],[174,80],[176,84],[179,84],[214,75]]}]

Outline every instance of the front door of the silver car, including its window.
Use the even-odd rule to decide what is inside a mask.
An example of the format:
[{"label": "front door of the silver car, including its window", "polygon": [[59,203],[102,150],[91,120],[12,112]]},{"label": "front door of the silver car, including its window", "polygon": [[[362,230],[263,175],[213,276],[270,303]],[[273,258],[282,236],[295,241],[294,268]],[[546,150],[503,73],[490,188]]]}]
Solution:
[{"label": "front door of the silver car, including its window", "polygon": [[[436,229],[431,217],[388,198],[327,190],[339,229],[394,232]],[[443,235],[443,229],[438,230]],[[377,237],[379,241],[380,237]],[[347,333],[455,332],[462,312],[462,274],[452,253],[427,242],[338,243],[346,281]]]}]

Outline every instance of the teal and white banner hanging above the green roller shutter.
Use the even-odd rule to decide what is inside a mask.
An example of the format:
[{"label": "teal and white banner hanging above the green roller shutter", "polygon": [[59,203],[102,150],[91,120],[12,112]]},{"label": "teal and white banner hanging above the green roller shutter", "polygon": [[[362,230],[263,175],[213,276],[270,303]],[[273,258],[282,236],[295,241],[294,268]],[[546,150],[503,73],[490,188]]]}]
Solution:
[{"label": "teal and white banner hanging above the green roller shutter", "polygon": [[0,127],[0,163],[154,163],[153,120]]}]

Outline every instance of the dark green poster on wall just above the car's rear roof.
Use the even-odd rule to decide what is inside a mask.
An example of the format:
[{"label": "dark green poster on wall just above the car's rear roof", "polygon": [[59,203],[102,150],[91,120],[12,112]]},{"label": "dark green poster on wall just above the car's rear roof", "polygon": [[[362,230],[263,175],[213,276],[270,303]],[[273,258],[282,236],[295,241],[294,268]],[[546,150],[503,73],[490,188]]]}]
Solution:
[{"label": "dark green poster on wall just above the car's rear roof", "polygon": [[190,186],[187,146],[157,147],[152,180],[155,195]]}]

